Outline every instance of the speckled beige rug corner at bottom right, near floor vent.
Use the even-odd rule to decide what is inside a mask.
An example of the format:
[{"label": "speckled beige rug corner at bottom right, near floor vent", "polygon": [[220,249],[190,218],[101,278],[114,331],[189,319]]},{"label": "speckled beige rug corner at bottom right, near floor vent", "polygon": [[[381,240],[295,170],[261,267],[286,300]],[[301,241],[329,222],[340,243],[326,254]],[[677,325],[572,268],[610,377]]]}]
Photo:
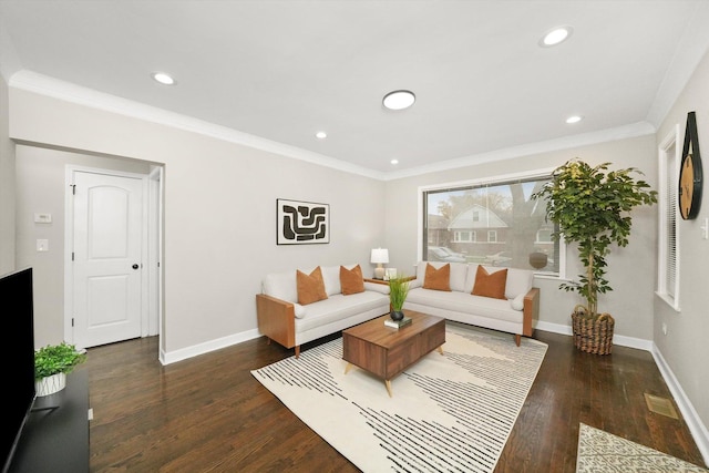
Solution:
[{"label": "speckled beige rug corner at bottom right, near floor vent", "polygon": [[709,470],[580,424],[576,473],[707,473]]}]

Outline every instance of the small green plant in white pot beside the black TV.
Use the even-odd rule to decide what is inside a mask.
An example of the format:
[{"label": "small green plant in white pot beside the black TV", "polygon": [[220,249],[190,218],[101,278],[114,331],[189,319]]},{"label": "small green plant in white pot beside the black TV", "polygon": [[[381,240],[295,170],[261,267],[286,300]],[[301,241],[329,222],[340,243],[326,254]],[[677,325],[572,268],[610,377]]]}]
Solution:
[{"label": "small green plant in white pot beside the black TV", "polygon": [[86,360],[86,352],[62,341],[34,352],[34,389],[38,397],[53,394],[66,385],[66,374]]}]

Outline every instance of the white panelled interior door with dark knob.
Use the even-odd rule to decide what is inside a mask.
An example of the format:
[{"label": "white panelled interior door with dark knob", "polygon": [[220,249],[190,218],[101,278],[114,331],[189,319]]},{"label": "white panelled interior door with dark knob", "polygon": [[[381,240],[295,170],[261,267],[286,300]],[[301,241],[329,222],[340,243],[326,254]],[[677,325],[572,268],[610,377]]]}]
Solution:
[{"label": "white panelled interior door with dark knob", "polygon": [[141,337],[144,179],[73,173],[73,339]]}]

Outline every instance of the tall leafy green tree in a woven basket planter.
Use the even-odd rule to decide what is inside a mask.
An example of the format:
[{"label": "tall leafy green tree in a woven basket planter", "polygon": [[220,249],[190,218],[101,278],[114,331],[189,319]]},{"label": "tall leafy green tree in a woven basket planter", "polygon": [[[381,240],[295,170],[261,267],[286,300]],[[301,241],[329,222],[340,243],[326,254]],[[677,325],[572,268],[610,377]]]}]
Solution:
[{"label": "tall leafy green tree in a woven basket planter", "polygon": [[615,320],[598,313],[598,294],[610,285],[606,279],[606,257],[613,245],[628,244],[630,210],[638,205],[657,202],[657,192],[649,184],[634,179],[643,175],[635,167],[608,171],[610,163],[592,167],[575,158],[552,173],[552,181],[532,195],[546,198],[546,217],[558,225],[555,238],[577,244],[578,257],[585,268],[578,281],[564,282],[559,289],[578,292],[586,305],[576,306],[572,313],[574,343],[582,351],[597,354],[610,352]]}]

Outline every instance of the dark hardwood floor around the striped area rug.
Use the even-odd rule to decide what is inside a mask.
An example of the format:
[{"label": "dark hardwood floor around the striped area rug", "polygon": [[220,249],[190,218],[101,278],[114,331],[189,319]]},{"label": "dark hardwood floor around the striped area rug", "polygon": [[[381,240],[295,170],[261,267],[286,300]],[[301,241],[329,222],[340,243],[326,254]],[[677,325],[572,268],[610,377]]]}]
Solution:
[{"label": "dark hardwood floor around the striped area rug", "polygon": [[[671,398],[649,352],[534,338],[548,351],[495,472],[574,472],[579,422],[705,465],[684,420],[647,408],[646,392]],[[251,376],[292,350],[260,338],[165,367],[157,350],[156,337],[89,350],[92,472],[359,471]]]}]

